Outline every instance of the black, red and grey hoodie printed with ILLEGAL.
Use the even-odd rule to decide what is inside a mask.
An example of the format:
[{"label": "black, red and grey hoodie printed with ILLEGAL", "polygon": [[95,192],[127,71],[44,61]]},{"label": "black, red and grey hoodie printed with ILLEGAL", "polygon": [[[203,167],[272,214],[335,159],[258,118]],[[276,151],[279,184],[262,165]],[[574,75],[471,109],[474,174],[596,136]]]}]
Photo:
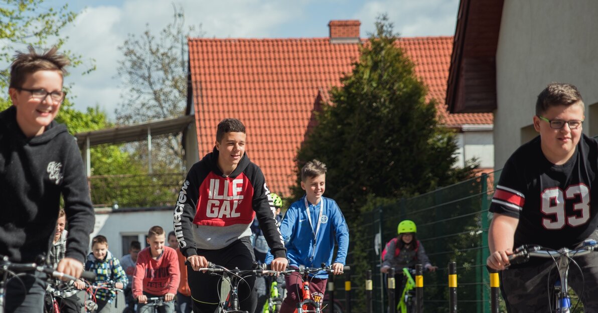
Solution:
[{"label": "black, red and grey hoodie printed with ILLEGAL", "polygon": [[219,250],[250,236],[249,227],[257,214],[272,254],[285,257],[274,203],[261,169],[247,153],[228,177],[217,164],[218,150],[214,148],[191,166],[179,192],[174,227],[181,252],[189,257],[197,254],[197,248]]}]

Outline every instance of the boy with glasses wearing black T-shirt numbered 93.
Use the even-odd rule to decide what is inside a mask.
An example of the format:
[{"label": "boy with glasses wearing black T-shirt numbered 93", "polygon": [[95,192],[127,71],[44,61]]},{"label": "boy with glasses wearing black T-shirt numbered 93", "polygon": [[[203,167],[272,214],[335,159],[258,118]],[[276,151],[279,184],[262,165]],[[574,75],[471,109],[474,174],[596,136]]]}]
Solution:
[{"label": "boy with glasses wearing black T-shirt numbered 93", "polygon": [[[496,270],[509,266],[520,245],[559,250],[598,240],[598,142],[584,135],[584,102],[570,84],[549,84],[538,95],[533,126],[538,137],[511,155],[490,205],[490,257]],[[569,283],[585,312],[598,312],[598,254],[575,258]],[[530,259],[501,272],[509,312],[547,312],[547,279],[556,281],[553,260]],[[583,293],[582,293],[583,291]]]}]

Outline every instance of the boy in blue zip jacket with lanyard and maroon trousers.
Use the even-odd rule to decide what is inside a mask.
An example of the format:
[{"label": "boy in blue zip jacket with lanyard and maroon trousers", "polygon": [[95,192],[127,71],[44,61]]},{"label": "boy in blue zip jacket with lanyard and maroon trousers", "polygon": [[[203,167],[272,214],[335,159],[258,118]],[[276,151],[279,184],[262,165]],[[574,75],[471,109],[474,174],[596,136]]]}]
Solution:
[{"label": "boy in blue zip jacket with lanyard and maroon trousers", "polygon": [[[306,195],[293,203],[280,224],[285,241],[286,257],[291,268],[319,268],[322,263],[332,264],[334,274],[343,273],[349,248],[349,229],[337,203],[322,196],[326,189],[326,165],[318,160],[307,162],[301,169],[301,188]],[[334,243],[338,244],[337,256],[332,262]],[[273,256],[268,253],[266,264]],[[280,313],[291,313],[301,299],[301,276],[286,276],[287,297],[280,306]],[[322,303],[328,274],[319,272],[310,279],[312,299]]]}]

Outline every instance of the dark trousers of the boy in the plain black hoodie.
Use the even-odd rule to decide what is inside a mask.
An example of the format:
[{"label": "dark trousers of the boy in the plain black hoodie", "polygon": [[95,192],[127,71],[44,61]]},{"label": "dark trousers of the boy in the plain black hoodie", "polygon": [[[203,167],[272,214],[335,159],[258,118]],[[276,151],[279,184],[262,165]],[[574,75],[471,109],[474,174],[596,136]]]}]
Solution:
[{"label": "dark trousers of the boy in the plain black hoodie", "polygon": [[[19,280],[20,279],[20,280]],[[4,308],[7,313],[44,312],[45,279],[42,273],[25,274],[8,279],[5,288]]]}]

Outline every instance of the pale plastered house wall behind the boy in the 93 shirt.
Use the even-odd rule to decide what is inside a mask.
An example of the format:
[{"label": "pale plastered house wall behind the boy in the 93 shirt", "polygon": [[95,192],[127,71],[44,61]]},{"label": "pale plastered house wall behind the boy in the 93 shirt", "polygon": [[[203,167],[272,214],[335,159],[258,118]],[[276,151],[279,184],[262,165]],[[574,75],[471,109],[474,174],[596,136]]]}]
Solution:
[{"label": "pale plastered house wall behind the boy in the 93 shirt", "polygon": [[[598,1],[505,0],[496,51],[495,168],[521,145],[538,94],[557,81],[598,102]],[[584,133],[598,120],[588,118]],[[596,125],[594,125],[596,127]]]}]

